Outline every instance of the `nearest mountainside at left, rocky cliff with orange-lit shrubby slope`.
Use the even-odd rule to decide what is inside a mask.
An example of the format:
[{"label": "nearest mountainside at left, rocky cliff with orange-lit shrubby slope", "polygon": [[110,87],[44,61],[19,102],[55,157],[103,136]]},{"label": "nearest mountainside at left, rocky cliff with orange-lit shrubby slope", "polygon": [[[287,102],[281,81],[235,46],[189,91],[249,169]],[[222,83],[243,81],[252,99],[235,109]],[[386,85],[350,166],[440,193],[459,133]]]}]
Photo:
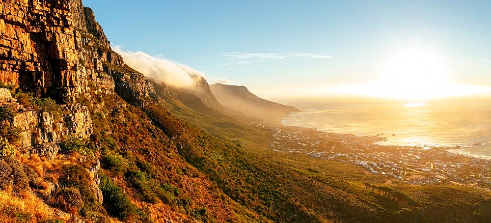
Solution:
[{"label": "nearest mountainside at left, rocky cliff with orange-lit shrubby slope", "polygon": [[[266,221],[178,155],[169,134],[184,123],[160,107],[170,123],[160,129],[141,110],[156,89],[111,50],[90,8],[0,8],[0,189],[70,213],[59,220]],[[25,219],[43,221],[4,220]]]}]

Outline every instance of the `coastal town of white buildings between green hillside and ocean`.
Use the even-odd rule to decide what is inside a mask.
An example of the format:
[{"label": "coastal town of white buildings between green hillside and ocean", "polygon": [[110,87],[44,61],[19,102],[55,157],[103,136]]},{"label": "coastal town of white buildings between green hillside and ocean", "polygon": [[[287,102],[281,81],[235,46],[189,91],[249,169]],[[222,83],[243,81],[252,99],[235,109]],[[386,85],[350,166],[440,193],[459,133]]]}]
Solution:
[{"label": "coastal town of white buildings between green hillside and ocean", "polygon": [[269,148],[275,152],[304,154],[361,166],[414,185],[453,183],[491,188],[491,163],[484,157],[459,153],[460,147],[379,145],[381,135],[355,136],[316,130],[289,131],[249,123],[267,129],[274,140]]}]

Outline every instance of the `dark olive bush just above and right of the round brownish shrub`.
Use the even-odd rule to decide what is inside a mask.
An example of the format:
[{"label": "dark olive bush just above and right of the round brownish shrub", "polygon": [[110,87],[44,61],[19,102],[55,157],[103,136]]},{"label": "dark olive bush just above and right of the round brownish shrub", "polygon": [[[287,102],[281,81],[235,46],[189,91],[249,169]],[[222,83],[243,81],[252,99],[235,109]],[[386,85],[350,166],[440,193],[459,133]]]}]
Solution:
[{"label": "dark olive bush just above and right of the round brownish shrub", "polygon": [[84,167],[80,165],[63,166],[58,182],[63,187],[73,187],[79,189],[80,195],[82,195],[82,199],[85,201],[85,203],[89,204],[95,202],[89,172]]}]

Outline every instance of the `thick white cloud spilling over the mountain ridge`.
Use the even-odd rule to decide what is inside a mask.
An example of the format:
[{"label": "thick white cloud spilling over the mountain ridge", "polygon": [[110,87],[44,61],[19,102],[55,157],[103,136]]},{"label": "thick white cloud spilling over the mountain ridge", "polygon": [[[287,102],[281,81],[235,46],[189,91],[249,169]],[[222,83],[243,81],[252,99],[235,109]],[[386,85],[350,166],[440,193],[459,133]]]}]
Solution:
[{"label": "thick white cloud spilling over the mountain ridge", "polygon": [[162,57],[154,57],[141,51],[125,51],[121,46],[113,47],[114,52],[123,56],[128,66],[142,73],[145,78],[157,83],[176,87],[189,87],[195,80],[203,77],[203,72],[196,71],[190,66],[180,64]]}]

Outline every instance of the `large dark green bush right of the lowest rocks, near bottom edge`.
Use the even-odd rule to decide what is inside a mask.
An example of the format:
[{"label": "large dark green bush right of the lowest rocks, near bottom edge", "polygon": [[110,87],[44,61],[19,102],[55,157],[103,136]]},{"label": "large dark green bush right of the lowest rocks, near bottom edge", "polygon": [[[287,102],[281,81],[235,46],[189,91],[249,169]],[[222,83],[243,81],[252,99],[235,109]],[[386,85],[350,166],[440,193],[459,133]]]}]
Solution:
[{"label": "large dark green bush right of the lowest rocks, near bottom edge", "polygon": [[123,189],[114,184],[102,171],[99,171],[99,178],[101,179],[99,188],[104,196],[103,205],[109,215],[119,220],[126,220],[130,216],[137,215],[136,205],[131,202]]}]

